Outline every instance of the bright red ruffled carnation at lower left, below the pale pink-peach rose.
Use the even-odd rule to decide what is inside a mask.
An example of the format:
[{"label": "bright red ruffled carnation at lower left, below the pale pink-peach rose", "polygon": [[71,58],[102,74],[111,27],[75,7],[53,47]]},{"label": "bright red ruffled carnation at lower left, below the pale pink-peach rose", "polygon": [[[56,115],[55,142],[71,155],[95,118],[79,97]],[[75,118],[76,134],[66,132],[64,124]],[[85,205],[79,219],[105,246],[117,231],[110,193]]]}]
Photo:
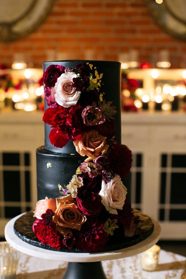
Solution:
[{"label": "bright red ruffled carnation at lower left, below the pale pink-peach rose", "polygon": [[50,245],[55,249],[60,249],[63,246],[61,235],[53,227],[45,226],[40,219],[36,219],[33,223],[33,232],[43,244]]}]

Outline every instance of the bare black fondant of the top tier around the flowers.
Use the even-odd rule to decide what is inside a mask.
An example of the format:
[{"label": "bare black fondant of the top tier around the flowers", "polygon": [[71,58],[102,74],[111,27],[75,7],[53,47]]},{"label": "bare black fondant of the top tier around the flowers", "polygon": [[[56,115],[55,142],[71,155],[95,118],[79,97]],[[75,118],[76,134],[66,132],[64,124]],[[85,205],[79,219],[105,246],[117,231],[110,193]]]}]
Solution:
[{"label": "bare black fondant of the top tier around the flowers", "polygon": [[[101,91],[104,92],[104,98],[106,101],[113,101],[113,105],[117,108],[117,114],[115,120],[116,127],[116,141],[121,144],[121,64],[119,62],[112,61],[92,61],[92,60],[63,60],[63,61],[50,61],[43,63],[43,72],[50,65],[63,65],[68,68],[75,68],[75,65],[80,63],[89,62],[93,64],[93,69],[96,67],[98,73],[103,73]],[[92,71],[93,72],[93,71]],[[47,109],[47,103],[45,101],[45,109]],[[50,125],[45,124],[45,148],[56,153],[74,153],[73,142],[70,141],[63,148],[54,147],[50,143],[49,133],[51,131]]]}]

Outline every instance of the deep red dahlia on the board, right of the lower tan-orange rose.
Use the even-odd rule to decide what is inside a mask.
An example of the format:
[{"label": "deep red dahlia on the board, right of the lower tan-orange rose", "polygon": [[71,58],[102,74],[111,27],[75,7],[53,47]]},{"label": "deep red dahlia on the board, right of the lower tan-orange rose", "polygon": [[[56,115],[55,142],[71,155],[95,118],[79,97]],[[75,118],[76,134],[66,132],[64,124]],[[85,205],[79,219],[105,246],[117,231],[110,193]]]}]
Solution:
[{"label": "deep red dahlia on the board, right of the lower tan-orange rose", "polygon": [[105,221],[89,218],[81,227],[76,230],[76,248],[82,248],[86,252],[97,252],[103,249],[108,241],[107,233],[104,231]]}]

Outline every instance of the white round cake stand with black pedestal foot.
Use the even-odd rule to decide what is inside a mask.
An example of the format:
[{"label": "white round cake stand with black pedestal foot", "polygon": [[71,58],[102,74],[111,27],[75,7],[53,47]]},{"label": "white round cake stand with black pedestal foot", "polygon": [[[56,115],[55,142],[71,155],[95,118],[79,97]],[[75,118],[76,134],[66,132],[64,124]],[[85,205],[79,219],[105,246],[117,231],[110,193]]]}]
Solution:
[{"label": "white round cake stand with black pedestal foot", "polygon": [[[21,214],[22,215],[22,214]],[[142,253],[151,248],[160,238],[161,227],[153,220],[153,233],[145,240],[133,246],[110,252],[97,253],[65,253],[51,251],[32,246],[14,233],[14,223],[21,215],[11,219],[5,227],[5,238],[16,250],[38,258],[69,262],[63,279],[106,279],[101,261],[127,258]]]}]

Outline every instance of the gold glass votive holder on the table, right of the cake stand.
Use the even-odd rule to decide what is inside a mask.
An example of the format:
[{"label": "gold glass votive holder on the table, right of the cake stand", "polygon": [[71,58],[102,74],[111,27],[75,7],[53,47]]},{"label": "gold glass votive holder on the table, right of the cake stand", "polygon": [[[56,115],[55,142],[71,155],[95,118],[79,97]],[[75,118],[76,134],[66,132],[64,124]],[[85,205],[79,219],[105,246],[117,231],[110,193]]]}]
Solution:
[{"label": "gold glass votive holder on the table, right of the cake stand", "polygon": [[141,267],[146,271],[153,271],[157,268],[160,246],[154,245],[140,255]]}]

